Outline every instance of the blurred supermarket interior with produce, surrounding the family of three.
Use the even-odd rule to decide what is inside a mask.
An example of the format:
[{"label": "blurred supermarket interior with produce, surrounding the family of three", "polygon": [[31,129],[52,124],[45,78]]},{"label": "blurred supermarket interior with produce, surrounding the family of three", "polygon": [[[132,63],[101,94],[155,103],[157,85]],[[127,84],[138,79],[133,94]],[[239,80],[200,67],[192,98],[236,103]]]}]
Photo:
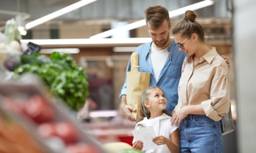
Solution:
[{"label": "blurred supermarket interior with produce, surrounding the family of three", "polygon": [[254,0],[1,1],[0,152],[140,152],[119,93],[132,52],[152,41],[144,10],[154,5],[173,26],[193,10],[229,58],[235,131],[223,152],[256,152]]}]

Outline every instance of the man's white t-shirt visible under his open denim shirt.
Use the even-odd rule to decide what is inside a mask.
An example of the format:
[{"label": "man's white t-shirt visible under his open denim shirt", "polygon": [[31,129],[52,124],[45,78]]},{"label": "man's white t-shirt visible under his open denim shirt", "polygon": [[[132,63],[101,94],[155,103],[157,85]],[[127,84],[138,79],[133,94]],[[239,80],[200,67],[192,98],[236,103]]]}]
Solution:
[{"label": "man's white t-shirt visible under his open denim shirt", "polygon": [[158,81],[160,73],[165,66],[166,60],[168,58],[169,52],[167,48],[163,50],[155,50],[153,44],[151,44],[150,49],[150,57],[151,57],[151,64],[154,71],[155,81]]}]

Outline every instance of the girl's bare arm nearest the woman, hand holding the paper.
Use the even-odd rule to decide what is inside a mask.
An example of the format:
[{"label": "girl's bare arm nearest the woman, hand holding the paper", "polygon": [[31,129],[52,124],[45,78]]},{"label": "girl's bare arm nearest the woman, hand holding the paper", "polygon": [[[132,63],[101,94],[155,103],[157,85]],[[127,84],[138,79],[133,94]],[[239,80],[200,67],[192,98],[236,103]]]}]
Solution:
[{"label": "girl's bare arm nearest the woman, hand holding the paper", "polygon": [[180,139],[179,139],[179,128],[176,129],[176,131],[172,132],[170,134],[171,140],[169,140],[166,137],[163,137],[162,135],[159,135],[155,138],[153,138],[153,142],[157,145],[166,144],[169,151],[172,153],[180,152]]}]

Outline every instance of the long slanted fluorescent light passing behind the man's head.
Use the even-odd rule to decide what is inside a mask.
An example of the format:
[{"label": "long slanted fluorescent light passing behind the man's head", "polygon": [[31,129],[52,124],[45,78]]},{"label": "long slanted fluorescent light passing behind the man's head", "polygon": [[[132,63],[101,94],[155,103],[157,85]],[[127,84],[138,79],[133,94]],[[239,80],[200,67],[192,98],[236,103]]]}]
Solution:
[{"label": "long slanted fluorescent light passing behind the man's head", "polygon": [[[210,0],[205,0],[205,1],[202,1],[202,2],[197,2],[195,4],[188,5],[187,7],[182,7],[180,9],[170,11],[169,12],[169,17],[172,18],[174,16],[182,15],[187,10],[202,9],[204,7],[207,7],[207,6],[213,5],[213,4],[214,4],[214,2],[210,1]],[[133,22],[131,24],[124,25],[122,27],[117,27],[115,29],[107,30],[105,32],[102,32],[102,33],[99,33],[97,35],[91,36],[90,38],[107,38],[108,36],[112,36],[115,33],[119,33],[119,32],[125,31],[125,30],[137,29],[138,27],[142,27],[144,25],[146,25],[146,21],[145,21],[145,19],[142,19],[140,21]]]}]

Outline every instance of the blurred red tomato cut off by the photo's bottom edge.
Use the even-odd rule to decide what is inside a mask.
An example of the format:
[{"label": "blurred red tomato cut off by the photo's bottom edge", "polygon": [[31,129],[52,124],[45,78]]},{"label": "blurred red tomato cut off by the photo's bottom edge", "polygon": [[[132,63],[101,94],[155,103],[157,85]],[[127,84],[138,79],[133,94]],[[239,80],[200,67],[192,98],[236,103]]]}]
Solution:
[{"label": "blurred red tomato cut off by the photo's bottom edge", "polygon": [[65,153],[99,153],[99,149],[91,144],[77,143],[67,146]]}]

